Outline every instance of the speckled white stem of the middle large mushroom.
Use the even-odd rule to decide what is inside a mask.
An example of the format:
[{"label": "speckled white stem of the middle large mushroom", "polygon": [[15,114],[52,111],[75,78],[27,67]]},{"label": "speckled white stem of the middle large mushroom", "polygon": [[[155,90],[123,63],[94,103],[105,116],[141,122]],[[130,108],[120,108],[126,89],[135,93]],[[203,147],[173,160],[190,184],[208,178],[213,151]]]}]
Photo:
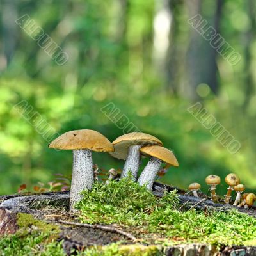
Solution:
[{"label": "speckled white stem of the middle large mushroom", "polygon": [[121,173],[121,179],[127,177],[129,172],[132,173],[134,179],[137,179],[141,159],[140,148],[141,145],[132,145],[129,147],[128,156]]}]

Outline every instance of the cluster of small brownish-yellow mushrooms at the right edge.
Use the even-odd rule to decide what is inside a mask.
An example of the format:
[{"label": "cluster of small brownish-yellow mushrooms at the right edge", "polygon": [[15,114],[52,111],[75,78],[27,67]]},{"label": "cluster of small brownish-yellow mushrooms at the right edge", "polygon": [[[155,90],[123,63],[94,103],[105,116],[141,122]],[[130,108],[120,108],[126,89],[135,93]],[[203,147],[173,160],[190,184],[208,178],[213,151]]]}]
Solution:
[{"label": "cluster of small brownish-yellow mushrooms at the right edge", "polygon": [[[217,175],[209,175],[205,178],[205,182],[210,186],[211,191],[211,199],[214,202],[218,202],[218,196],[216,195],[216,186],[220,184],[221,179]],[[236,174],[230,173],[225,178],[225,182],[228,184],[227,195],[225,195],[225,204],[230,204],[230,198],[232,191],[236,191],[236,200],[234,201],[235,206],[244,207],[244,209],[248,209],[248,207],[252,207],[254,202],[256,201],[256,195],[253,193],[243,193],[245,190],[245,186],[240,184],[240,179]],[[198,197],[197,191],[201,188],[199,183],[191,183],[188,186],[189,191],[193,193],[194,196]],[[243,195],[241,196],[241,194]]]}]

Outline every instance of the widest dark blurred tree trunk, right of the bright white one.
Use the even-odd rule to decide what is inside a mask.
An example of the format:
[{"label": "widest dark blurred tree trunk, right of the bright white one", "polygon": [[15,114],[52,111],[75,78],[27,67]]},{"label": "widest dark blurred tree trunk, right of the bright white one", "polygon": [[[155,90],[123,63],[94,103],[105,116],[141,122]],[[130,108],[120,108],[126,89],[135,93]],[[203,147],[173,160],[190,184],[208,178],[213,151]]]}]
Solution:
[{"label": "widest dark blurred tree trunk, right of the bright white one", "polygon": [[[202,15],[202,0],[187,0],[189,10],[189,19],[196,14]],[[206,19],[208,24],[205,28],[213,26],[216,32],[220,31],[221,9],[223,6],[222,0],[216,1],[216,9],[212,14],[212,22]],[[202,19],[205,19],[202,15]],[[217,65],[216,65],[216,50],[210,45],[210,42],[205,40],[194,28],[191,27],[191,40],[189,42],[187,58],[187,86],[186,93],[189,98],[196,100],[196,87],[200,83],[208,84],[213,93],[218,93]]]}]

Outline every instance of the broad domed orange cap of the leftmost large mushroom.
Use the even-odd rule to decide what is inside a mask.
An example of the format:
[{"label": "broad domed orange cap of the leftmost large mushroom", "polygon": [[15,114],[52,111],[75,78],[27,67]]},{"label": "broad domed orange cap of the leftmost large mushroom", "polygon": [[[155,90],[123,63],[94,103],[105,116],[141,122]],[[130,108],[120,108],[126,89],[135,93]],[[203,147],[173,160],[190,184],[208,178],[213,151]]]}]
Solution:
[{"label": "broad domed orange cap of the leftmost large mushroom", "polygon": [[104,135],[87,129],[65,132],[52,141],[49,148],[65,150],[90,149],[96,152],[114,151],[113,145]]}]

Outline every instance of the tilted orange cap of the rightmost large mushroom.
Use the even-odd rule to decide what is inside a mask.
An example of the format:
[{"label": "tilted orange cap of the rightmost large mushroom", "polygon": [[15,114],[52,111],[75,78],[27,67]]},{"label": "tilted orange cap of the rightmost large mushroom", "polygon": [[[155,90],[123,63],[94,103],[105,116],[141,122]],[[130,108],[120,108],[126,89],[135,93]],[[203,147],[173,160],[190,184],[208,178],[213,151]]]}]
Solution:
[{"label": "tilted orange cap of the rightmost large mushroom", "polygon": [[164,161],[166,164],[170,164],[173,166],[179,166],[179,163],[176,157],[173,155],[173,152],[168,150],[167,148],[158,146],[158,145],[147,145],[140,149],[141,154],[145,156],[156,157]]}]

